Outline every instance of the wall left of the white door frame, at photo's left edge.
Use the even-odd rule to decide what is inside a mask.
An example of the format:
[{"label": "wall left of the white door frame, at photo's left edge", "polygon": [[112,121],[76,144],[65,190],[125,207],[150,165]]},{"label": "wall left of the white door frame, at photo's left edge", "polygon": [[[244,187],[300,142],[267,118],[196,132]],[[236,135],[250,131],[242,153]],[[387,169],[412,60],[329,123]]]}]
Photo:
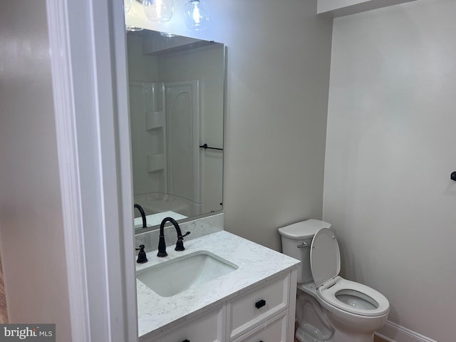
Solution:
[{"label": "wall left of the white door frame, at photo's left edge", "polygon": [[0,250],[9,322],[56,323],[58,341],[71,341],[46,2],[9,1],[0,32]]}]

